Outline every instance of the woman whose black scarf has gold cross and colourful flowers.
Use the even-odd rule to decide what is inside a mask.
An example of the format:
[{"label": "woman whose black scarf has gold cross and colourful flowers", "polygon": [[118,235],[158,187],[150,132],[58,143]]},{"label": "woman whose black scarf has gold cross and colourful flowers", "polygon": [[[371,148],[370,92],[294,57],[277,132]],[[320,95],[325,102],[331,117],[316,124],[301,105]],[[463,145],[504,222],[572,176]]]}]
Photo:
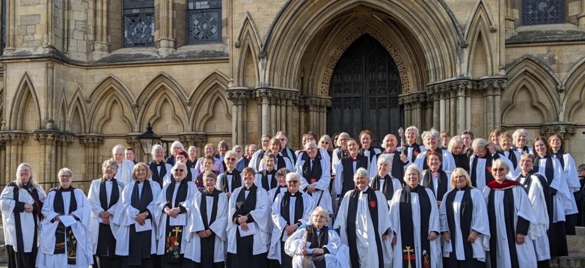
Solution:
[{"label": "woman whose black scarf has gold cross and colourful flowers", "polygon": [[164,185],[154,207],[163,211],[157,226],[157,255],[162,256],[163,267],[183,267],[183,253],[187,239],[187,215],[197,191],[195,183],[187,180],[187,165],[178,156],[184,157],[184,151],[175,153],[176,163],[171,169],[171,183]]}]

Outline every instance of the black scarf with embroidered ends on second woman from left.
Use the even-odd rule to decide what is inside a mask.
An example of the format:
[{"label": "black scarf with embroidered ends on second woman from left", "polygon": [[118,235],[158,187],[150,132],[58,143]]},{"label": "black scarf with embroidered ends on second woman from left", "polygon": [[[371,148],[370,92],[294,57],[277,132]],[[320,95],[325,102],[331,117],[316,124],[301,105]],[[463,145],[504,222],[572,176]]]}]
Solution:
[{"label": "black scarf with embroidered ends on second woman from left", "polygon": [[[53,210],[59,215],[69,215],[72,211],[77,210],[77,200],[75,200],[75,188],[63,188],[61,185],[57,188],[51,189],[56,192],[53,200]],[[69,211],[65,212],[63,204],[63,193],[70,192],[71,198],[69,200]],[[63,254],[65,252],[65,243],[67,243],[67,264],[75,264],[75,257],[77,256],[77,239],[71,231],[71,227],[65,227],[63,223],[59,222],[55,230],[55,249],[53,254]]]}]

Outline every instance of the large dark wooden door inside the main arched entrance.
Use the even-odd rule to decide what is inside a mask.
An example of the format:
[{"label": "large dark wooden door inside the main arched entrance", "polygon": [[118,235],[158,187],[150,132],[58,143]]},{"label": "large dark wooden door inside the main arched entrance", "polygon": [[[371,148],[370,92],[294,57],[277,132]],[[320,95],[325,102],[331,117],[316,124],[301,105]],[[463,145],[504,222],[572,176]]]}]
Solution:
[{"label": "large dark wooden door inside the main arched entrance", "polygon": [[[398,104],[400,74],[390,53],[374,37],[359,37],[339,59],[329,85],[333,105],[327,112],[327,132],[357,135],[369,129],[374,145],[388,133],[398,134],[404,110]],[[332,137],[333,138],[333,137]]]}]

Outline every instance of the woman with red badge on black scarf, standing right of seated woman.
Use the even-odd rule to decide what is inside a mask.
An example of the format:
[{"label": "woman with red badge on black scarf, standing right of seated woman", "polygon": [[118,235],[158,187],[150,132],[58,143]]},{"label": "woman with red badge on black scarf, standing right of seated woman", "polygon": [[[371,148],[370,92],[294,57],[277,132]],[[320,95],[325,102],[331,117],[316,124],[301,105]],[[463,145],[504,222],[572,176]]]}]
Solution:
[{"label": "woman with red badge on black scarf, standing right of seated woman", "polygon": [[356,188],[343,197],[333,228],[339,229],[341,242],[349,246],[353,268],[390,267],[393,233],[386,197],[368,186],[370,173],[362,167],[353,181]]}]

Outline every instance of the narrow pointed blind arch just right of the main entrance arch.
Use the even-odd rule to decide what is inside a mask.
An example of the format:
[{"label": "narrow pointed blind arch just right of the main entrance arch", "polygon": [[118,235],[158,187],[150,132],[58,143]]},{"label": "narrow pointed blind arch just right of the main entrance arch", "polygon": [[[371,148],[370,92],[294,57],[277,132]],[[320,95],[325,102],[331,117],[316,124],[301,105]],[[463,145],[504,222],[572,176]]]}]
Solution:
[{"label": "narrow pointed blind arch just right of the main entrance arch", "polygon": [[[483,0],[477,1],[474,9],[467,21],[465,29],[465,38],[467,42],[467,76],[473,77],[474,74],[494,75],[494,64],[497,59],[497,53],[494,53],[493,32],[497,29],[490,10]],[[477,59],[477,57],[481,57]],[[485,62],[484,62],[485,61]],[[474,70],[481,68],[482,70]],[[484,69],[484,70],[483,70]]]}]

